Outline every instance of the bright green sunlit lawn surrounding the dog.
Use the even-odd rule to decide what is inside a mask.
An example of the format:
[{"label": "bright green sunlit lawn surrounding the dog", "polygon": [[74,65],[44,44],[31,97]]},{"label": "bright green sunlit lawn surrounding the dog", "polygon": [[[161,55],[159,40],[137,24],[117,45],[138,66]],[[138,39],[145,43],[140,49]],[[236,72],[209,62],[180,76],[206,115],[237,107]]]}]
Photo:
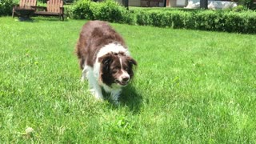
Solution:
[{"label": "bright green sunlit lawn surrounding the dog", "polygon": [[0,142],[256,142],[256,35],[111,24],[138,61],[113,106],[80,82],[85,21],[0,23]]}]

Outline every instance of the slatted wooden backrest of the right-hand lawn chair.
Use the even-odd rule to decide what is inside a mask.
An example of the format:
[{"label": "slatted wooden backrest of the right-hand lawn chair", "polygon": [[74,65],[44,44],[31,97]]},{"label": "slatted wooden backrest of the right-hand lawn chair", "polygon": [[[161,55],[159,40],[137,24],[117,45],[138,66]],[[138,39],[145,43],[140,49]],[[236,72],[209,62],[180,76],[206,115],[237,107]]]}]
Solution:
[{"label": "slatted wooden backrest of the right-hand lawn chair", "polygon": [[60,7],[63,7],[62,0],[50,0],[47,1],[47,11],[53,13],[62,13]]}]

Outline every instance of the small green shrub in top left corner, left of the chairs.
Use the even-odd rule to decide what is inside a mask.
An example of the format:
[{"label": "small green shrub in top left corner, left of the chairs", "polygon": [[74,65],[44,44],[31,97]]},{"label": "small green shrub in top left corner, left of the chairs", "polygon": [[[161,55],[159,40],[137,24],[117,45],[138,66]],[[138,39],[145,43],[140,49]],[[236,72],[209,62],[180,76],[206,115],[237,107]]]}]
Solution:
[{"label": "small green shrub in top left corner, left of the chairs", "polygon": [[0,15],[10,15],[13,6],[12,0],[0,0]]}]

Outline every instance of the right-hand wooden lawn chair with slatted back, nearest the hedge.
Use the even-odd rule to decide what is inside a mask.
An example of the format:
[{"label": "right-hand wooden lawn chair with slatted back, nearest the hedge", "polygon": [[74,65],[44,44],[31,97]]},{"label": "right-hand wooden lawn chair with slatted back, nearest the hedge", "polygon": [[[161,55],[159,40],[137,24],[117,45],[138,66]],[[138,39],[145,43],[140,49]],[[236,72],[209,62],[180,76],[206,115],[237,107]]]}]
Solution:
[{"label": "right-hand wooden lawn chair with slatted back, nearest the hedge", "polygon": [[64,7],[62,0],[49,0],[47,6],[32,6],[36,9],[35,15],[58,16],[64,21]]}]

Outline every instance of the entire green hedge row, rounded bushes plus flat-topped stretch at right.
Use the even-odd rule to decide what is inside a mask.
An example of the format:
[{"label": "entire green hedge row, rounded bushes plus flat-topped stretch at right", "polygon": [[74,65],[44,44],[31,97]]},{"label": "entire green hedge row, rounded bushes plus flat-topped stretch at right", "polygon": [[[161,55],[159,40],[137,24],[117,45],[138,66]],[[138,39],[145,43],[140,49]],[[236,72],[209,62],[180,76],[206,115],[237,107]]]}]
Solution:
[{"label": "entire green hedge row, rounded bushes plus flat-topped stretch at right", "polygon": [[[66,9],[67,10],[67,9]],[[126,10],[117,2],[78,0],[68,10],[71,18],[174,29],[256,33],[256,12],[252,10]]]}]

